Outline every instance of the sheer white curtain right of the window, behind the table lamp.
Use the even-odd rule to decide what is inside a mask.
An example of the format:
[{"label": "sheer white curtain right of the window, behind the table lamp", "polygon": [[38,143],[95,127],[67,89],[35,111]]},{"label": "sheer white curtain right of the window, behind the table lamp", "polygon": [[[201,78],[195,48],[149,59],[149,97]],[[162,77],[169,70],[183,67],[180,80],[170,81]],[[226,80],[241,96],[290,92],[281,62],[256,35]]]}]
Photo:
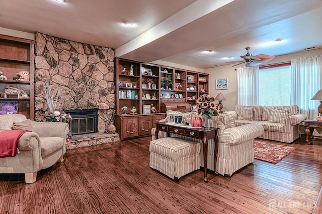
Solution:
[{"label": "sheer white curtain right of the window, behind the table lamp", "polygon": [[291,60],[291,105],[297,105],[307,118],[318,115],[318,100],[311,100],[321,90],[322,55]]}]

